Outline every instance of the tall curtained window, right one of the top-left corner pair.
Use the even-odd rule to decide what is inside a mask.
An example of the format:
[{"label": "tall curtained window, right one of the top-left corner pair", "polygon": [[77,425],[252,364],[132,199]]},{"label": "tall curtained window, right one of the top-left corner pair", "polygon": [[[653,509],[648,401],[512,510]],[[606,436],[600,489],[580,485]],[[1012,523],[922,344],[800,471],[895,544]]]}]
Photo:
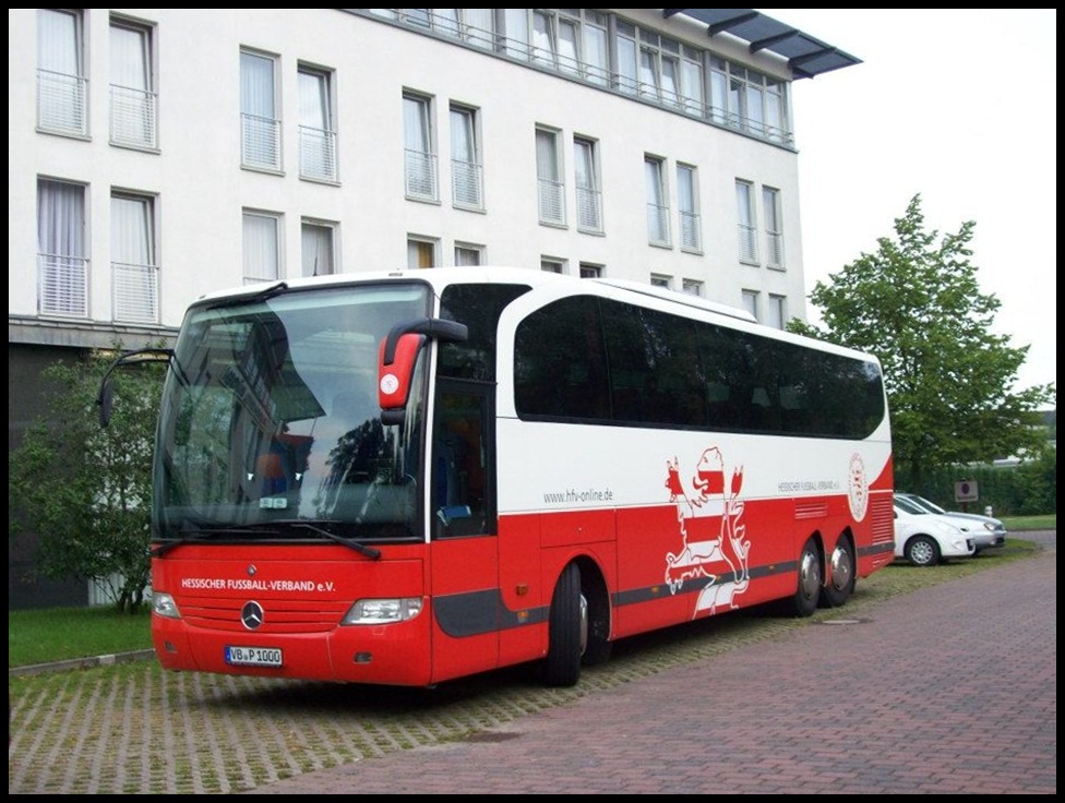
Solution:
[{"label": "tall curtained window, right one of the top-left corner pair", "polygon": [[157,147],[152,29],[112,19],[110,59],[111,144]]}]

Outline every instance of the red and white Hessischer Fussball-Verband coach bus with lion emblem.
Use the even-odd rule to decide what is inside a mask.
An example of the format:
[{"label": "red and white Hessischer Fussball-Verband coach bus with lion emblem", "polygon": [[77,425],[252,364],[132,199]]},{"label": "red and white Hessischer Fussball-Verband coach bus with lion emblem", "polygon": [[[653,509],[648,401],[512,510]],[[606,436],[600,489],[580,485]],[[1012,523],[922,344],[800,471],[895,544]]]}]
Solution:
[{"label": "red and white Hessischer Fussball-Verband coach bus with lion emblem", "polygon": [[166,669],[431,686],[539,661],[572,685],[619,638],[810,615],[893,560],[876,359],[697,298],[299,279],[199,300],[166,358]]}]

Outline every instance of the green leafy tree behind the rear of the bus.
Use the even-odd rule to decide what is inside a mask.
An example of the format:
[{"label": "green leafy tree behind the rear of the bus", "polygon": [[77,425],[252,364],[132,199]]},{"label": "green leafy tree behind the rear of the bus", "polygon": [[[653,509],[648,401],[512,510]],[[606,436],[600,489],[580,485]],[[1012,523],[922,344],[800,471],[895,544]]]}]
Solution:
[{"label": "green leafy tree behind the rear of the bus", "polygon": [[1029,347],[991,332],[1001,302],[980,292],[969,262],[974,226],[940,239],[925,230],[914,195],[895,220],[895,238],[879,238],[875,253],[814,286],[810,300],[825,328],[788,326],[879,358],[896,474],[913,488],[933,466],[1038,450],[1045,435],[1036,410],[1056,405],[1053,384],[1012,391]]}]

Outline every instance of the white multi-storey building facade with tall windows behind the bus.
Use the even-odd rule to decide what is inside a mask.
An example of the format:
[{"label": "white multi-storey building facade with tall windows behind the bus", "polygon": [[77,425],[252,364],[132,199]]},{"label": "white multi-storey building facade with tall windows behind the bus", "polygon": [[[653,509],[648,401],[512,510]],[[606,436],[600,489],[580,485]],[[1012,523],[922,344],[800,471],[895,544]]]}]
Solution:
[{"label": "white multi-storey building facade with tall windows behind the bus", "polygon": [[8,21],[9,448],[41,367],[255,281],[507,264],[803,319],[791,83],[858,63],[746,9]]}]

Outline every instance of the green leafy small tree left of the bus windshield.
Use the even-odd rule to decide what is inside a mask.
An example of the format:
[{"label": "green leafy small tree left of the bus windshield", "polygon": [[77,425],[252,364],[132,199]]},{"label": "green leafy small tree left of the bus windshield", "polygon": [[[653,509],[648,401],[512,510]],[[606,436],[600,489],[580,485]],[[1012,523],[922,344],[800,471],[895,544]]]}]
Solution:
[{"label": "green leafy small tree left of the bus windshield", "polygon": [[[117,347],[119,348],[119,347]],[[112,374],[110,426],[99,424],[96,396],[115,352],[93,351],[44,375],[56,392],[47,411],[8,455],[8,535],[35,532],[40,571],[55,579],[95,580],[119,611],[144,602],[152,457],[161,367]]]}]

